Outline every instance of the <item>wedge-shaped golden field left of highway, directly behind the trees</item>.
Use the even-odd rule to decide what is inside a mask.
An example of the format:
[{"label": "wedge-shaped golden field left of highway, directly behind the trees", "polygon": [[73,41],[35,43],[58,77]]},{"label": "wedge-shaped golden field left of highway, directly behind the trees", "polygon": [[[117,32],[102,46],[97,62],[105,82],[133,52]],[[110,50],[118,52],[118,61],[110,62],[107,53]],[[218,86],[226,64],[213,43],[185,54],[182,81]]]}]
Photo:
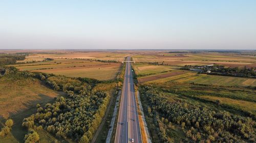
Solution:
[{"label": "wedge-shaped golden field left of highway, directly behind the trees", "polygon": [[120,63],[105,63],[105,65],[93,65],[88,67],[70,67],[45,70],[33,70],[36,72],[53,73],[67,77],[88,77],[98,80],[114,79],[120,71]]}]

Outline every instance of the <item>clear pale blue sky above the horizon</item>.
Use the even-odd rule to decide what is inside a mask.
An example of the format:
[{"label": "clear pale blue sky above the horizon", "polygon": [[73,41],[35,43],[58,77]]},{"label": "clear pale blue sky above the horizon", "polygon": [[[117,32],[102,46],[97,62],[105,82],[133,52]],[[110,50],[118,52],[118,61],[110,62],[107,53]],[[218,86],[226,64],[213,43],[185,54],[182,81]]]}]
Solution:
[{"label": "clear pale blue sky above the horizon", "polygon": [[256,49],[256,1],[2,0],[9,48]]}]

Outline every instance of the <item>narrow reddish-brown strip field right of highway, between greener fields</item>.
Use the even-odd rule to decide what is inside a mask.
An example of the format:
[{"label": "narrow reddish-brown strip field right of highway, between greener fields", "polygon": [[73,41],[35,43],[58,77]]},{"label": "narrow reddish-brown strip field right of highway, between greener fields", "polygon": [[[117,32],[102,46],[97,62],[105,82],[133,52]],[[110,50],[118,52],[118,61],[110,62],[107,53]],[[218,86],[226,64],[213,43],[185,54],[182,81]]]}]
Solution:
[{"label": "narrow reddish-brown strip field right of highway, between greener fields", "polygon": [[152,75],[152,76],[141,77],[141,78],[138,78],[138,81],[140,83],[142,83],[142,82],[157,80],[157,79],[166,78],[166,77],[170,77],[170,76],[180,75],[180,74],[183,74],[186,72],[187,71],[176,70],[176,71],[168,72],[168,73],[164,73],[164,74],[157,74],[157,75]]}]

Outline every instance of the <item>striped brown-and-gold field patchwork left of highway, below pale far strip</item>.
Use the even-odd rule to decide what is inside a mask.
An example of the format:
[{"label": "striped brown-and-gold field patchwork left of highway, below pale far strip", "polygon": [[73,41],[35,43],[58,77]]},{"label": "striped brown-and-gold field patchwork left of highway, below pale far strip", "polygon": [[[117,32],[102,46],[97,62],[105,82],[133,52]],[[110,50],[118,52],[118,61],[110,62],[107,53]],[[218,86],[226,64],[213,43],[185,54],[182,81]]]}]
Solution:
[{"label": "striped brown-and-gold field patchwork left of highway, below pale far strip", "polygon": [[47,62],[12,65],[19,70],[53,73],[68,77],[88,77],[98,80],[114,79],[121,63],[106,63],[79,59],[54,59]]}]

